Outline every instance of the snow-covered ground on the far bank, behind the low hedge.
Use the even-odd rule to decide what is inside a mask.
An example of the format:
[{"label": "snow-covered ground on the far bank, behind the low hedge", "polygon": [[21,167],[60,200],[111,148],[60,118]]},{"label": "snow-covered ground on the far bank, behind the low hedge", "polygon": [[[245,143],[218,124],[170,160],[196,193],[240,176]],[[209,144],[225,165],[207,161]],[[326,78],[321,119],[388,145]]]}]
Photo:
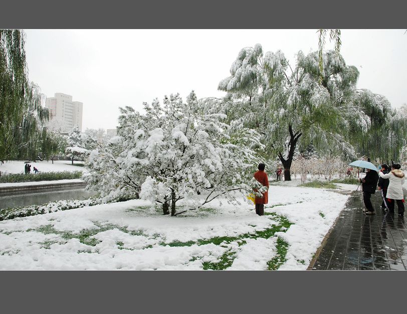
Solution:
[{"label": "snow-covered ground on the far bank, behind the low hedge", "polygon": [[[82,162],[74,161],[74,165],[71,165],[71,161],[38,161],[36,163],[30,163],[31,174],[34,174],[34,167],[40,172],[63,172],[63,171],[82,171],[87,174],[85,167],[75,166],[75,164],[81,164]],[[24,174],[24,161],[6,161],[4,164],[0,163],[0,171],[4,174]]]}]

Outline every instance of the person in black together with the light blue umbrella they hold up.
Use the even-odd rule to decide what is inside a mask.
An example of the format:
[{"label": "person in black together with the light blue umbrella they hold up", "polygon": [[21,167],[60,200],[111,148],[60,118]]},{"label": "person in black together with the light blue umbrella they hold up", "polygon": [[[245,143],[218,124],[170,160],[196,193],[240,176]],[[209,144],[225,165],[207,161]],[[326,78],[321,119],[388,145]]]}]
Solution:
[{"label": "person in black together with the light blue umbrella they hold up", "polygon": [[366,207],[363,212],[366,215],[373,215],[374,209],[370,201],[370,196],[376,192],[377,181],[379,180],[379,175],[377,174],[377,168],[370,162],[366,161],[354,161],[349,164],[350,166],[363,167],[367,170],[366,176],[363,179],[359,179],[362,184],[363,190],[363,203]]}]

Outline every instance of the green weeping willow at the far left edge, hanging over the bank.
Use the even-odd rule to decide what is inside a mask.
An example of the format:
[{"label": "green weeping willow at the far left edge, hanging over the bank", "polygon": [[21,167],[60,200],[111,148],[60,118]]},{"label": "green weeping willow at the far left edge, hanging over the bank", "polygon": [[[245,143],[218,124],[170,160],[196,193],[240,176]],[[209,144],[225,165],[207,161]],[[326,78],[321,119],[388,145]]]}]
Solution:
[{"label": "green weeping willow at the far left edge, hanging over the bank", "polygon": [[42,124],[49,119],[45,96],[28,80],[25,34],[0,30],[0,160],[35,159]]}]

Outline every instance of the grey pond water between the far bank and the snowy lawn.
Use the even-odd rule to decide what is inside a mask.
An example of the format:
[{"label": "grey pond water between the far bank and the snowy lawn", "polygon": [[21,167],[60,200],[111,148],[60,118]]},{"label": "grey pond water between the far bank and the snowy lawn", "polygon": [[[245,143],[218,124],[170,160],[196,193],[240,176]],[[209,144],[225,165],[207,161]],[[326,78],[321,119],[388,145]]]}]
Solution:
[{"label": "grey pond water between the far bank and the snowy lawn", "polygon": [[0,196],[0,209],[7,207],[21,207],[29,205],[41,205],[60,200],[84,200],[95,195],[93,192],[86,192],[84,188],[73,188],[70,190],[53,189],[52,191],[27,191],[12,195]]}]

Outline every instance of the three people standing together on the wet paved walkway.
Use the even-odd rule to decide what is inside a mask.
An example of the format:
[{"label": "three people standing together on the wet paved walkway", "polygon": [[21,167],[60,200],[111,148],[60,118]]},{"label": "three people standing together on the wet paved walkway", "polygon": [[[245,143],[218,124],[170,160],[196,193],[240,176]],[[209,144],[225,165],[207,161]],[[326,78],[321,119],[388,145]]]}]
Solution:
[{"label": "three people standing together on the wet paved walkway", "polygon": [[405,182],[404,173],[400,170],[399,164],[393,164],[391,168],[386,164],[381,165],[381,170],[377,173],[367,169],[366,176],[359,179],[362,183],[363,202],[366,215],[374,214],[373,205],[370,201],[371,194],[374,194],[376,187],[381,193],[383,202],[381,209],[394,213],[394,204],[397,203],[398,215],[404,216],[404,195],[403,184]]}]

